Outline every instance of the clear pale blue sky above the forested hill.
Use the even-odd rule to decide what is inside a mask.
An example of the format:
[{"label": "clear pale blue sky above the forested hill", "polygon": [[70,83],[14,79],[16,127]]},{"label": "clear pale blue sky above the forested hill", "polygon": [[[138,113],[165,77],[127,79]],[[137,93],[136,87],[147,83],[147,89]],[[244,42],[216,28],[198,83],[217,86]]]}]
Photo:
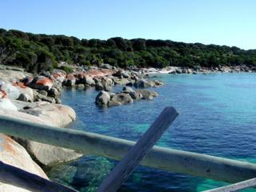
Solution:
[{"label": "clear pale blue sky above the forested hill", "polygon": [[256,49],[255,0],[0,0],[0,28]]}]

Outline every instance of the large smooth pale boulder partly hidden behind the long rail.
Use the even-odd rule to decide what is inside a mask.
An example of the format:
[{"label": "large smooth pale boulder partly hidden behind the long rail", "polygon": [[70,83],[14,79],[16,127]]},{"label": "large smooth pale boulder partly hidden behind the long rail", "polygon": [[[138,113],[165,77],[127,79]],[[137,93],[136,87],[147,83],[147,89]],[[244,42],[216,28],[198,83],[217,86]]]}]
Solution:
[{"label": "large smooth pale boulder partly hidden behind the long rail", "polygon": [[[12,103],[17,110],[2,109],[0,110],[0,115],[58,127],[64,127],[75,119],[74,110],[68,106],[50,104],[49,102],[28,103],[12,101]],[[76,154],[74,150],[27,141],[21,138],[16,138],[16,140],[26,148],[36,162],[44,166],[55,162],[70,161],[82,156],[82,154]]]}]

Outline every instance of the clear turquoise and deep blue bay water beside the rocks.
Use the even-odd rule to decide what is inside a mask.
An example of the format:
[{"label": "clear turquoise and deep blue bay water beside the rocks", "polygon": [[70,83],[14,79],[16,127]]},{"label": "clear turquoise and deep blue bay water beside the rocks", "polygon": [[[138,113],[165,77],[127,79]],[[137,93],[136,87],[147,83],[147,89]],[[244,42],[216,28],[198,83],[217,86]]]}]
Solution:
[{"label": "clear turquoise and deep blue bay water beside the rocks", "polygon": [[[65,90],[62,102],[78,115],[70,127],[137,141],[165,106],[174,106],[179,116],[158,146],[256,162],[256,74],[163,74],[159,79],[166,85],[154,89],[159,94],[154,101],[106,110],[94,105],[94,89]],[[84,157],[48,174],[78,190],[95,191],[115,163]],[[223,185],[140,166],[119,191],[201,191]]]}]

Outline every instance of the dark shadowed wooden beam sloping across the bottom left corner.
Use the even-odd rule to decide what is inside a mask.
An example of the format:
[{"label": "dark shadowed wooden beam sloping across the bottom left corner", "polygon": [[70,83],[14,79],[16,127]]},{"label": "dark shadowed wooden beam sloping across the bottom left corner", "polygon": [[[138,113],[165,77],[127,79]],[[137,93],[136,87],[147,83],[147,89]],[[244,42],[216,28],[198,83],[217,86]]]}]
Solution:
[{"label": "dark shadowed wooden beam sloping across the bottom left corner", "polygon": [[57,182],[51,182],[41,178],[37,174],[31,174],[26,170],[10,166],[0,161],[0,182],[18,186],[33,192],[78,192],[70,187],[62,186]]}]

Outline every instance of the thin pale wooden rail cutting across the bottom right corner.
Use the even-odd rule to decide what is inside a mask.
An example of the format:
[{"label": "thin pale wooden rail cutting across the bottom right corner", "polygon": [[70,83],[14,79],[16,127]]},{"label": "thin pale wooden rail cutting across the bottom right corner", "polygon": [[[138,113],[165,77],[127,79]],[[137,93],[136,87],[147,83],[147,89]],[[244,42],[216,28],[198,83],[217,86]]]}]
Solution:
[{"label": "thin pale wooden rail cutting across the bottom right corner", "polygon": [[205,192],[233,192],[238,190],[244,190],[250,187],[256,186],[256,178],[251,178],[243,182],[237,182],[229,186],[218,187],[213,190],[205,190]]}]

